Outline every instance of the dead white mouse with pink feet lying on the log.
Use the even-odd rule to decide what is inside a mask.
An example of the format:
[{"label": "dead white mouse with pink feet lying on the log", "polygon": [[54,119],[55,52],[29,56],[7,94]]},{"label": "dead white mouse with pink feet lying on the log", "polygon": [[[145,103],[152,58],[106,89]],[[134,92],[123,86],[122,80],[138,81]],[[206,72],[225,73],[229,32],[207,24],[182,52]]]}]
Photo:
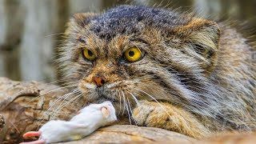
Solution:
[{"label": "dead white mouse with pink feet lying on the log", "polygon": [[30,131],[24,138],[40,136],[38,141],[23,142],[26,144],[42,144],[74,141],[93,133],[99,127],[110,125],[116,121],[114,106],[111,102],[90,104],[75,115],[70,121],[53,120],[46,122],[38,131]]}]

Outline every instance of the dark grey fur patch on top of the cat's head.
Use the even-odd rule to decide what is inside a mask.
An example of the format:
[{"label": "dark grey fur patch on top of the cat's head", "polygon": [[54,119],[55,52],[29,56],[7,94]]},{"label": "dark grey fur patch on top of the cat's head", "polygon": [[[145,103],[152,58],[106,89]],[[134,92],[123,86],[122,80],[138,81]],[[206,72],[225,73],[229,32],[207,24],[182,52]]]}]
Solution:
[{"label": "dark grey fur patch on top of the cat's head", "polygon": [[118,6],[93,18],[90,30],[99,38],[110,41],[117,34],[136,34],[142,31],[142,24],[166,30],[174,26],[186,25],[189,21],[190,18],[170,10],[146,6]]}]

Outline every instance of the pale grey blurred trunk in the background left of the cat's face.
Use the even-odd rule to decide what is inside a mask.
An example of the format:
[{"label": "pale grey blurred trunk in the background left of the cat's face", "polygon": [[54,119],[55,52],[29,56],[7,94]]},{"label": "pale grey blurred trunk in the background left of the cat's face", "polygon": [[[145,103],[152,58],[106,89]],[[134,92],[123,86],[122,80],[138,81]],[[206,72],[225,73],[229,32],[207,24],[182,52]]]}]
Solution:
[{"label": "pale grey blurred trunk in the background left of the cat's face", "polygon": [[[49,79],[54,78],[51,66],[53,60],[54,38],[58,19],[57,1],[30,1],[22,0],[26,10],[24,17],[24,33],[21,44],[21,75],[22,79]],[[51,80],[51,79],[50,79]]]}]

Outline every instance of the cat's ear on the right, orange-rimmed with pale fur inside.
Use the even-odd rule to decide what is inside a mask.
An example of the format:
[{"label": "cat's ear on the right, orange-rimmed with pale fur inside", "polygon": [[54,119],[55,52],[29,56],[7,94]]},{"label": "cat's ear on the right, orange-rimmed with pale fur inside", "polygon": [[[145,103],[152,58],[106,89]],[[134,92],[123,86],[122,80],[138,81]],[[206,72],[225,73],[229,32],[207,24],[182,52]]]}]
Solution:
[{"label": "cat's ear on the right, orange-rimmed with pale fur inside", "polygon": [[218,60],[220,30],[217,22],[203,18],[193,18],[187,25],[178,28],[186,33],[186,51],[202,61],[206,73],[214,70]]}]

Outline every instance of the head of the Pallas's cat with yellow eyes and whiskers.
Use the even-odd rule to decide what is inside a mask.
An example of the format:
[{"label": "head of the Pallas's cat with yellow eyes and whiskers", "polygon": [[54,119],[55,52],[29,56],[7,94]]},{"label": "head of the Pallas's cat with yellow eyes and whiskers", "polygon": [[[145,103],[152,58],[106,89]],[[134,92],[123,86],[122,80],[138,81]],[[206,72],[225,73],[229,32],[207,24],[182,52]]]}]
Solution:
[{"label": "head of the Pallas's cat with yellow eyes and whiskers", "polygon": [[216,22],[118,6],[103,14],[74,14],[65,36],[60,68],[89,102],[110,100],[117,109],[119,102],[130,109],[137,99],[162,100],[190,110],[208,103],[200,93],[217,62]]}]

